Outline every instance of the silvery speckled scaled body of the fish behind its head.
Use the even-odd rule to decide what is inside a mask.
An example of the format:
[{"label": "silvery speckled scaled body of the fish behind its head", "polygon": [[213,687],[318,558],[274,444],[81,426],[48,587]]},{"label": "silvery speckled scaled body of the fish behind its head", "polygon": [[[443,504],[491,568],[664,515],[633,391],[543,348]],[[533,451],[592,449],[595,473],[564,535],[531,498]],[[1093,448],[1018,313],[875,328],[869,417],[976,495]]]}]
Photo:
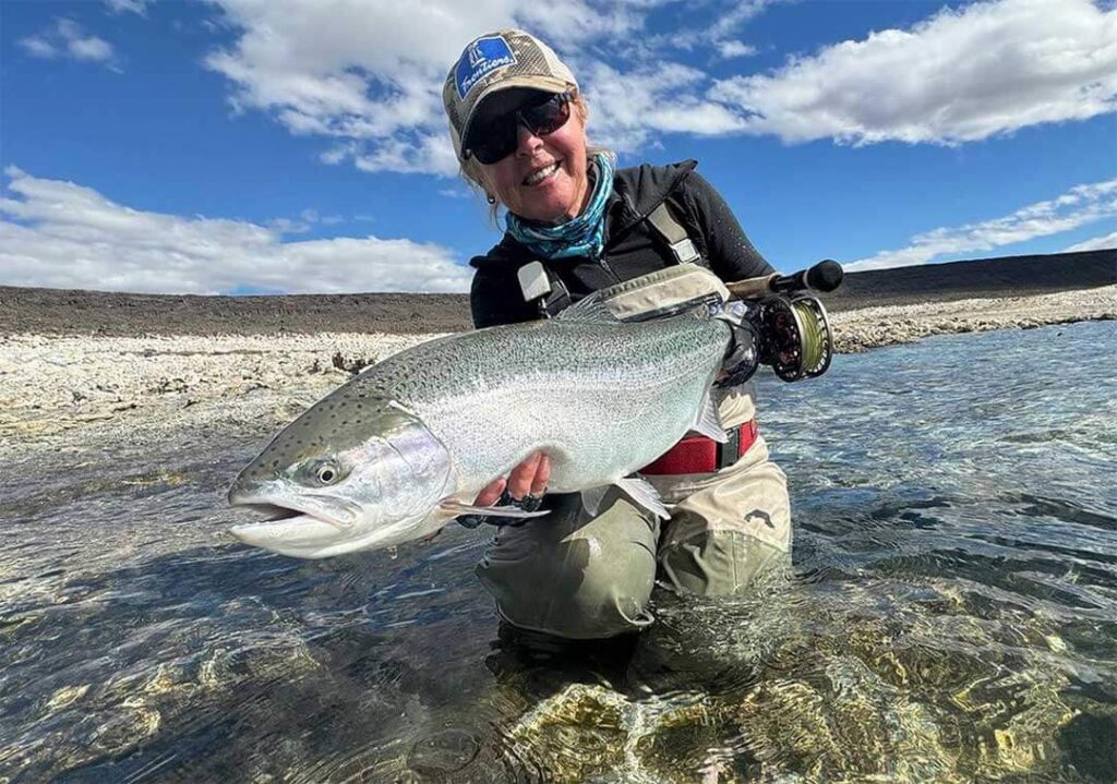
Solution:
[{"label": "silvery speckled scaled body of the fish behind its head", "polygon": [[443,338],[351,383],[419,414],[454,456],[460,487],[544,449],[551,488],[564,493],[608,484],[675,443],[727,341],[725,324],[706,318],[541,322]]}]

